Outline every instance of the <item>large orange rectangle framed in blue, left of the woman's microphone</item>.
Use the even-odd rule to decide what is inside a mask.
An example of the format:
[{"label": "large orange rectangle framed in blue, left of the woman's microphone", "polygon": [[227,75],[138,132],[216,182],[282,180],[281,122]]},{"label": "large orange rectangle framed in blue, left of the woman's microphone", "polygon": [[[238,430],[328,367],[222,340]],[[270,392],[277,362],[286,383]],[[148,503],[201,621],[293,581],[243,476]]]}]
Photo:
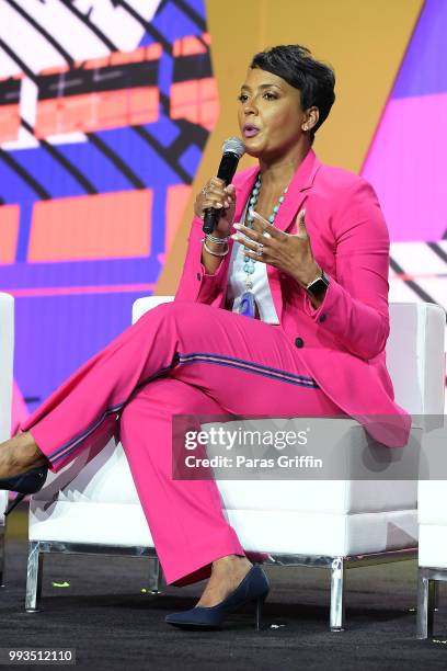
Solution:
[{"label": "large orange rectangle framed in blue, left of the woman's microphone", "polygon": [[148,257],[152,197],[145,189],[36,203],[27,261]]}]

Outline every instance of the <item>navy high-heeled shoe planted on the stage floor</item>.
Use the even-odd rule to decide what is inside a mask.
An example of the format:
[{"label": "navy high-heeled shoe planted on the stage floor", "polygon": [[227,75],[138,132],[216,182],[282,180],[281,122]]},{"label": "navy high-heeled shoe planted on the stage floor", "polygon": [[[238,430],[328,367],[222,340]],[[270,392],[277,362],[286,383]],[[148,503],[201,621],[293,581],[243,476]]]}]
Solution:
[{"label": "navy high-heeled shoe planted on the stage floor", "polygon": [[261,609],[270,590],[268,579],[262,568],[255,564],[242,582],[224,601],[215,606],[195,606],[182,613],[167,615],[165,622],[184,629],[217,629],[227,615],[249,601],[256,602],[255,626],[260,630]]}]

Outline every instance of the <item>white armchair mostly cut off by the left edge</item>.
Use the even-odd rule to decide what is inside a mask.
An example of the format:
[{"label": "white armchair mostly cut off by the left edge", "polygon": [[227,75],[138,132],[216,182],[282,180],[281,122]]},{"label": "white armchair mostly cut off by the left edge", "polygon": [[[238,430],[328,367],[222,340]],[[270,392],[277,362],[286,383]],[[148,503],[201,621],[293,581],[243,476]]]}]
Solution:
[{"label": "white armchair mostly cut off by the left edge", "polygon": [[[11,435],[13,348],[14,299],[0,294],[0,443]],[[3,585],[7,505],[8,492],[0,490],[0,585]]]}]

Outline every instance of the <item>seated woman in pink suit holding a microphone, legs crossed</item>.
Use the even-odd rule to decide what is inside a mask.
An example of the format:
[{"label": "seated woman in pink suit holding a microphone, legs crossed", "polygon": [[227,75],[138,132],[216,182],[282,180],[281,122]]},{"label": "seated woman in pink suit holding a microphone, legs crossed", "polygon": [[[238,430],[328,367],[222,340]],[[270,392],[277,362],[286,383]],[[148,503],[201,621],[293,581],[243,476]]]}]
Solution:
[{"label": "seated woman in pink suit holding a microphone, legs crossed", "polygon": [[[215,481],[172,479],[174,414],[347,414],[389,446],[408,440],[385,362],[387,226],[371,186],[311,149],[333,89],[332,70],[303,47],[254,56],[239,126],[259,167],[198,194],[175,300],[93,356],[1,446],[0,486],[36,491],[46,468],[105,444],[119,422],[167,582],[210,577],[194,609],[167,617],[176,626],[219,626],[245,601],[260,606],[268,582]],[[207,207],[221,216],[204,239]]]}]

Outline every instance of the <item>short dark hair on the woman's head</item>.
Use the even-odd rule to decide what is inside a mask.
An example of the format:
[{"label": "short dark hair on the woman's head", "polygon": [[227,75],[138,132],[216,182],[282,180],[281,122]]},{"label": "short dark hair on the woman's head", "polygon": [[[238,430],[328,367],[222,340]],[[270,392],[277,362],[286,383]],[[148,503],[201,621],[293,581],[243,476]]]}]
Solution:
[{"label": "short dark hair on the woman's head", "polygon": [[299,89],[301,109],[319,109],[318,123],[311,129],[311,140],[321,124],[328,118],[335,100],[335,75],[332,68],[316,60],[310,50],[299,44],[272,47],[253,56],[251,68],[260,68],[282,77],[291,87]]}]

